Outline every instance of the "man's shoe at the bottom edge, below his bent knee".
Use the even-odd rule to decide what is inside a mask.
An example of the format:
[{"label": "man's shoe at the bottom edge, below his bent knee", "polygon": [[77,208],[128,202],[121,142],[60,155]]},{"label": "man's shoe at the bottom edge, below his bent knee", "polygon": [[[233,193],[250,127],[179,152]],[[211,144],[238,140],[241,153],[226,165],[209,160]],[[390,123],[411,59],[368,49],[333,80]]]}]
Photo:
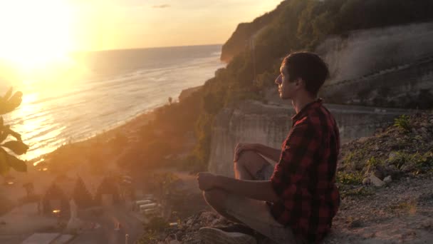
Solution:
[{"label": "man's shoe at the bottom edge, below his bent knee", "polygon": [[222,228],[203,227],[200,228],[199,235],[206,244],[256,244],[256,238],[252,236],[254,230],[251,230],[251,234],[246,233],[250,230],[233,226]]}]

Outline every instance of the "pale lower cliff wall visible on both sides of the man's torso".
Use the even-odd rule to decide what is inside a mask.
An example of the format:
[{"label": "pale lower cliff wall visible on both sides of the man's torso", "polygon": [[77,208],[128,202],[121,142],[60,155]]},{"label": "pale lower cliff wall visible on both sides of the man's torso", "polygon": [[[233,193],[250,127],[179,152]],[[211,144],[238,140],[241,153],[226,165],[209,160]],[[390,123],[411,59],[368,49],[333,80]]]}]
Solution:
[{"label": "pale lower cliff wall visible on both sides of the man's torso", "polygon": [[[412,111],[325,104],[340,129],[341,143],[371,136],[377,128],[389,126],[394,118]],[[290,105],[266,105],[245,101],[236,108],[224,108],[212,128],[209,171],[234,176],[233,156],[236,143],[261,143],[281,148],[291,128],[295,111]]]}]

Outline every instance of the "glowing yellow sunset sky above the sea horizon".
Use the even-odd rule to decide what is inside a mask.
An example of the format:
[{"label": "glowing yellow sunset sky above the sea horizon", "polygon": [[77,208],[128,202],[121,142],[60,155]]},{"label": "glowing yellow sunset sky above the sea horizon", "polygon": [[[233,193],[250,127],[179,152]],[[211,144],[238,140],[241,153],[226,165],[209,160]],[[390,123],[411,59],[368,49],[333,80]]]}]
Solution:
[{"label": "glowing yellow sunset sky above the sea horizon", "polygon": [[0,51],[223,44],[281,0],[14,0],[0,2]]}]

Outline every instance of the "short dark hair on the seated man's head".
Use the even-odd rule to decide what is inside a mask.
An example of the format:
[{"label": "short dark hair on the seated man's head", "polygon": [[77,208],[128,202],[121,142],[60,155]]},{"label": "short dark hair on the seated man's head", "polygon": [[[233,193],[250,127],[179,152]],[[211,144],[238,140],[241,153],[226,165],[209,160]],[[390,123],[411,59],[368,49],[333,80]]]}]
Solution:
[{"label": "short dark hair on the seated man's head", "polygon": [[306,83],[306,90],[314,97],[329,76],[326,63],[317,54],[308,51],[289,54],[283,60],[283,66],[288,71],[289,81],[302,78]]}]

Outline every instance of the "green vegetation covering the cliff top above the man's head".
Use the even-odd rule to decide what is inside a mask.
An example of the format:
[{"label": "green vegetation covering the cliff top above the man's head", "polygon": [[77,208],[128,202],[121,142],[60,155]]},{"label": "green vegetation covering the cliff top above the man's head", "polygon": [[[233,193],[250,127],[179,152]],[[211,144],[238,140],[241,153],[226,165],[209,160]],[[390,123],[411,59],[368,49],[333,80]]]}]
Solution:
[{"label": "green vegetation covering the cliff top above the man's head", "polygon": [[268,51],[288,52],[314,46],[328,34],[429,21],[432,10],[429,0],[286,0],[253,22],[239,24],[224,44],[221,60],[244,52],[253,36],[258,44],[277,44]]}]

